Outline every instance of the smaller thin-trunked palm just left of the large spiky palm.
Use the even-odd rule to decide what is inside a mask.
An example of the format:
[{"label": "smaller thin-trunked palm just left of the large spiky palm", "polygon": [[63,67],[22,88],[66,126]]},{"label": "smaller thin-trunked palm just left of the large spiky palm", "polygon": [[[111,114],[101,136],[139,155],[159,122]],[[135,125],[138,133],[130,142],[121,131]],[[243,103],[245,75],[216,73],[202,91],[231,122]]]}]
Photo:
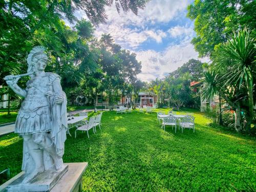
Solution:
[{"label": "smaller thin-trunked palm just left of the large spiky palm", "polygon": [[218,91],[219,90],[218,80],[219,80],[219,76],[214,70],[209,69],[208,71],[204,72],[204,76],[202,78],[203,84],[201,86],[199,93],[203,99],[209,99],[211,97],[214,97],[214,95],[219,94],[219,111],[220,111],[219,124],[223,125],[222,113],[221,113],[221,94]]}]

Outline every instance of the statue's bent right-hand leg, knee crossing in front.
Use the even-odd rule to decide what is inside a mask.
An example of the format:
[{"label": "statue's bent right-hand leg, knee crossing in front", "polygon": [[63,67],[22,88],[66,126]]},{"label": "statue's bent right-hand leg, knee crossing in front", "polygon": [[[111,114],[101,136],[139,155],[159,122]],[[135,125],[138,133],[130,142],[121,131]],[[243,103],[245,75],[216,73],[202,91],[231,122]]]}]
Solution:
[{"label": "statue's bent right-hand leg, knee crossing in front", "polygon": [[41,148],[46,150],[53,158],[56,169],[60,169],[63,166],[62,157],[58,156],[52,139],[47,133],[38,133],[39,137],[34,140]]}]

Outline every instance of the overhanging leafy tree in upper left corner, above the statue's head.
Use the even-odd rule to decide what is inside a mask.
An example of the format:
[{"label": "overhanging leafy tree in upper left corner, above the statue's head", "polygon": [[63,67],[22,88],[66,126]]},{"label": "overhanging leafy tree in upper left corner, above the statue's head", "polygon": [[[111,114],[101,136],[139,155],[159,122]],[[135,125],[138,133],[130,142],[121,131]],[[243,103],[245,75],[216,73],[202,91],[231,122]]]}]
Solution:
[{"label": "overhanging leafy tree in upper left corner, above the statue's head", "polygon": [[[115,1],[117,11],[131,10],[138,14],[144,9],[147,0],[142,1]],[[105,23],[108,18],[105,13],[106,6],[112,6],[114,1],[3,1],[0,4],[0,77],[9,72],[20,71],[19,63],[26,63],[27,52],[35,45],[43,45],[49,51],[59,55],[65,53],[64,46],[67,30],[61,19],[70,23],[77,22],[75,11],[83,11],[91,22],[97,26]],[[79,26],[78,26],[79,28]],[[81,31],[82,28],[78,29]],[[18,65],[17,65],[18,63]],[[4,81],[0,78],[0,83]]]}]

